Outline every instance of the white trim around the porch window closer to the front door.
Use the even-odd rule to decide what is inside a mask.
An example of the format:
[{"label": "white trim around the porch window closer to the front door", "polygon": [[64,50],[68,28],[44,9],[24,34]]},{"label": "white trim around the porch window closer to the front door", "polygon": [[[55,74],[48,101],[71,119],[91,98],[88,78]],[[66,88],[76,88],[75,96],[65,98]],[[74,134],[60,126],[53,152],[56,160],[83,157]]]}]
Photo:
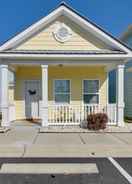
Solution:
[{"label": "white trim around the porch window closer to the front door", "polygon": [[[55,101],[55,81],[57,81],[57,80],[68,80],[69,82],[70,82],[70,93],[64,93],[64,94],[69,94],[70,95],[70,99],[69,99],[69,103],[67,103],[67,102],[56,102]],[[59,93],[57,93],[57,94],[59,94]],[[63,94],[63,93],[60,93],[60,94]],[[71,104],[71,79],[54,79],[53,80],[53,101],[54,101],[54,104],[56,104],[56,105],[62,105],[62,104],[66,104],[66,105],[68,105],[68,104]]]}]

